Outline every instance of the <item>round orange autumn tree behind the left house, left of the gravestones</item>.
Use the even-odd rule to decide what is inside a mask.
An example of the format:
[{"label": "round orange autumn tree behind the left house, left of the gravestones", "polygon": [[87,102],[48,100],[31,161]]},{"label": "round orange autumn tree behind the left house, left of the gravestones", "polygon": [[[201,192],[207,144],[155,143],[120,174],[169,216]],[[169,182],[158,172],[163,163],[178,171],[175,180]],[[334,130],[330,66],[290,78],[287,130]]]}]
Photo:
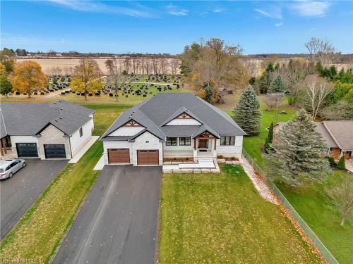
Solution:
[{"label": "round orange autumn tree behind the left house, left of the gravestones", "polygon": [[13,89],[27,93],[28,97],[37,89],[44,89],[48,84],[48,77],[42,72],[42,67],[35,61],[16,63],[11,75]]}]

